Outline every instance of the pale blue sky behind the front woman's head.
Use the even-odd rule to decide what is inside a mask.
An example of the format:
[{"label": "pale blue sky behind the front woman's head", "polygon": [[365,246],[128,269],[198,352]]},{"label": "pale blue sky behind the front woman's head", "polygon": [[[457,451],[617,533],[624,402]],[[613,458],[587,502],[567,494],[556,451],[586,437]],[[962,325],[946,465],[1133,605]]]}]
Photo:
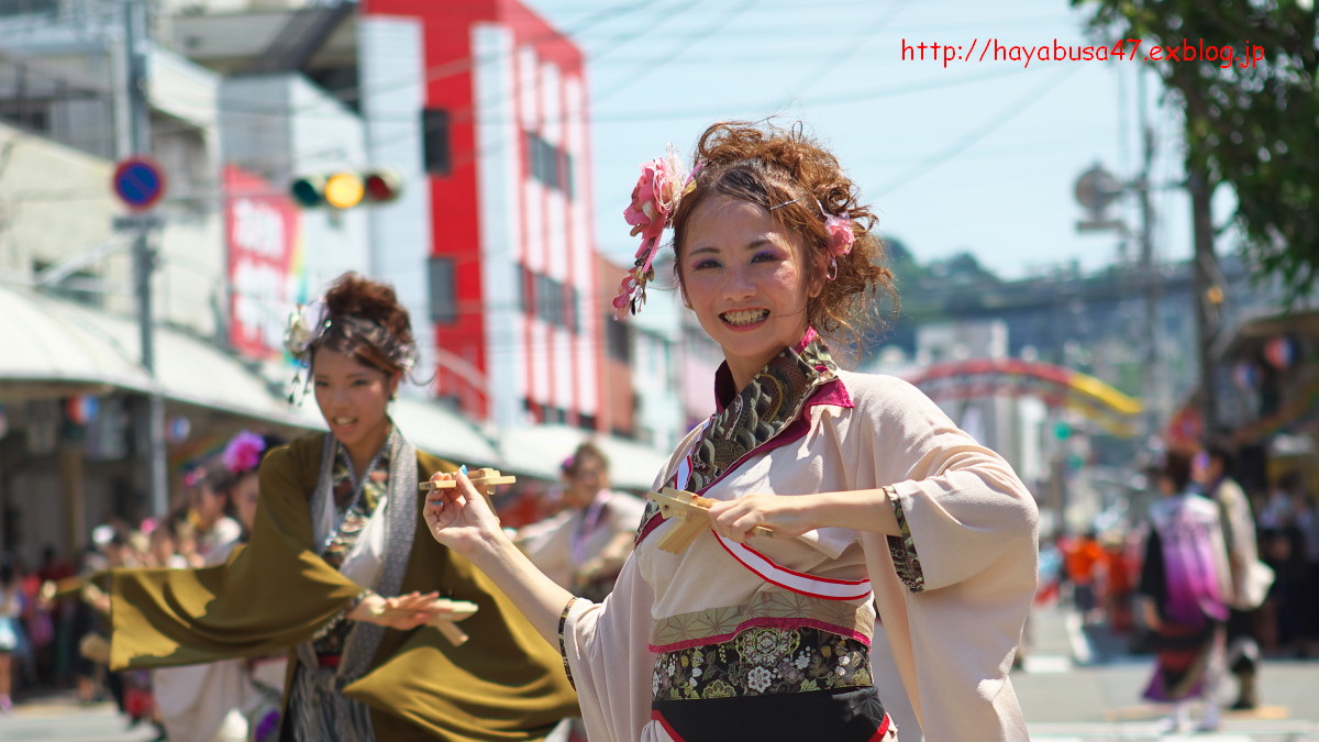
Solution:
[{"label": "pale blue sky behind the front woman's head", "polygon": [[[587,53],[596,235],[620,260],[636,250],[621,213],[637,165],[667,143],[690,152],[714,120],[766,115],[803,120],[830,144],[877,206],[881,232],[918,260],[968,251],[1025,277],[1119,255],[1116,235],[1075,230],[1074,184],[1095,162],[1120,178],[1136,173],[1145,62],[901,58],[904,41],[981,50],[991,40],[1116,41],[1087,37],[1066,0],[526,1]],[[1159,106],[1153,71],[1145,77],[1154,182],[1174,182],[1181,119]],[[1163,189],[1154,206],[1158,256],[1184,259],[1184,195]],[[1116,211],[1136,224],[1134,202]]]}]

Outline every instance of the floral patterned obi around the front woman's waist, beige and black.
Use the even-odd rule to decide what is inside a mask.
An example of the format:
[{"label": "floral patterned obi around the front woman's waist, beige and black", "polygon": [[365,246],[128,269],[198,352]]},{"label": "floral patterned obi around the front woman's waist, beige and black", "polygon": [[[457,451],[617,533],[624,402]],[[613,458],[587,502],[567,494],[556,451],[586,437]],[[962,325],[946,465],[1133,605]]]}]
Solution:
[{"label": "floral patterned obi around the front woman's waist, beige and black", "polygon": [[765,591],[748,605],[656,621],[654,701],[732,698],[865,688],[871,679],[871,601]]}]

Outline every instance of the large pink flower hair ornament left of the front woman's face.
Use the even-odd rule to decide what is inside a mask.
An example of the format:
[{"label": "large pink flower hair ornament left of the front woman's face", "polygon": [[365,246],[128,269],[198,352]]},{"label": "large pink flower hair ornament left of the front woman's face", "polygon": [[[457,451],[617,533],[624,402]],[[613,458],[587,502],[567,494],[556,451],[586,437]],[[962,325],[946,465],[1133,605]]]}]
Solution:
[{"label": "large pink flower hair ornament left of the front woman's face", "polygon": [[[632,236],[641,235],[636,263],[623,276],[619,296],[613,298],[613,317],[623,320],[636,314],[646,301],[646,283],[656,277],[654,259],[665,227],[673,223],[678,203],[696,187],[696,173],[703,162],[687,173],[678,153],[670,148],[663,157],[641,165],[641,177],[632,189],[632,203],[623,210],[623,218],[632,224]],[[681,186],[678,184],[682,184]]]}]

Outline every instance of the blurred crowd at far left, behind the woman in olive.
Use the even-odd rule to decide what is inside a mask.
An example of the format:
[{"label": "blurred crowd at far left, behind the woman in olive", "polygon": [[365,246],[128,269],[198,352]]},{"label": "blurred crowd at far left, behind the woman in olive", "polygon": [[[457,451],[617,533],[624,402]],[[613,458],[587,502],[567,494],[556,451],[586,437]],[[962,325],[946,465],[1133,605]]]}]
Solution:
[{"label": "blurred crowd at far left, behind the woman in olive", "polygon": [[247,539],[256,515],[256,465],[278,442],[239,433],[224,452],[186,467],[165,516],[140,523],[108,516],[73,558],[53,547],[37,565],[0,558],[0,713],[13,706],[16,693],[74,687],[80,702],[113,700],[129,726],[156,724],[164,739],[150,673],[106,669],[109,603],[90,577],[121,566],[222,564]]}]

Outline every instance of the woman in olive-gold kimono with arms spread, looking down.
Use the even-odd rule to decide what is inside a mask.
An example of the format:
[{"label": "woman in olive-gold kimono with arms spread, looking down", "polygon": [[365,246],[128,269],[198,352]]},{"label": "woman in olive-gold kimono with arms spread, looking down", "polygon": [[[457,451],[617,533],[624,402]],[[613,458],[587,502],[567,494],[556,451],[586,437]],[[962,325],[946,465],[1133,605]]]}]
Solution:
[{"label": "woman in olive-gold kimono with arms spread, looking down", "polygon": [[[111,667],[289,651],[282,739],[538,739],[576,713],[558,658],[467,558],[426,537],[419,473],[452,471],[389,420],[414,355],[390,287],[348,273],[286,339],[330,428],[272,450],[249,543],[222,566],[108,577]],[[470,640],[430,622],[471,601]]]}]

